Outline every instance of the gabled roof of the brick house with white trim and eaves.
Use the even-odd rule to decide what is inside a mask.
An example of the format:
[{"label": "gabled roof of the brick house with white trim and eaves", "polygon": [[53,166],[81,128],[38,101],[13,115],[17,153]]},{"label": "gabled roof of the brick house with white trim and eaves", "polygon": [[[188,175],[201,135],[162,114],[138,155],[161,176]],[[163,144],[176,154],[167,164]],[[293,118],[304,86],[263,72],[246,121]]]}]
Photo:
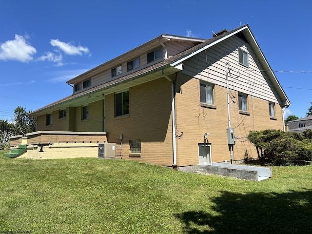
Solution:
[{"label": "gabled roof of the brick house with white trim and eaves", "polygon": [[[144,69],[141,69],[137,72],[125,75],[123,77],[117,78],[115,80],[109,81],[107,83],[98,85],[97,87],[85,90],[83,92],[80,92],[78,94],[74,94],[71,96],[68,96],[66,98],[63,98],[61,100],[58,100],[54,103],[51,103],[45,107],[42,107],[32,113],[30,113],[30,115],[32,116],[39,116],[42,114],[46,114],[58,109],[62,109],[62,108],[66,108],[67,106],[78,106],[81,105],[82,103],[90,103],[93,101],[97,101],[100,99],[103,99],[103,95],[107,95],[110,93],[114,93],[118,90],[121,89],[125,89],[125,88],[129,88],[131,86],[140,84],[140,83],[144,83],[144,82],[148,82],[150,80],[156,79],[156,78],[161,78],[162,74],[160,73],[160,70],[163,70],[164,73],[166,75],[170,75],[175,73],[176,71],[182,70],[182,63],[183,61],[185,61],[186,59],[191,58],[192,56],[208,49],[209,47],[227,39],[230,38],[234,35],[238,35],[238,34],[243,34],[243,36],[248,40],[249,44],[251,45],[251,47],[254,50],[254,53],[257,55],[260,63],[262,64],[263,68],[269,72],[266,72],[268,77],[270,78],[271,82],[273,83],[273,85],[276,87],[276,92],[278,93],[278,95],[280,96],[280,98],[283,101],[283,105],[288,106],[290,105],[290,101],[287,98],[284,90],[282,89],[282,87],[280,86],[280,83],[278,82],[274,72],[272,71],[267,59],[264,57],[258,43],[256,42],[256,40],[254,39],[254,35],[251,32],[250,28],[248,25],[243,25],[240,26],[238,28],[235,28],[231,31],[226,31],[223,30],[223,32],[221,32],[220,34],[218,34],[218,36],[213,37],[212,39],[193,39],[193,38],[187,38],[187,37],[179,37],[179,36],[174,36],[174,35],[167,35],[167,34],[163,34],[160,35],[159,37],[156,37],[155,39],[152,39],[144,44],[142,44],[141,46],[137,47],[138,49],[146,46],[146,45],[151,45],[153,44],[155,41],[159,40],[159,39],[184,39],[184,40],[190,40],[190,41],[197,41],[201,43],[195,45],[194,47],[191,47],[190,49],[187,49],[175,56],[170,57],[169,59],[163,60],[159,63],[156,63],[154,65],[151,65],[149,67],[146,67]],[[135,48],[135,49],[137,49]],[[135,50],[134,49],[134,50]],[[122,56],[126,56],[128,54],[130,54],[131,52],[133,52],[134,50],[131,50],[125,54],[123,54]],[[104,71],[104,67],[105,65],[107,65],[108,63],[112,63],[114,62],[116,59],[120,59],[122,56],[119,56],[115,59],[112,59],[106,63],[103,63],[101,65],[99,65],[96,68],[93,68],[83,74],[81,74],[80,76],[76,77],[83,77],[85,78],[85,76],[94,76],[95,74],[98,74],[102,71]],[[125,57],[122,57],[123,59],[125,59]],[[104,70],[102,70],[104,69]],[[74,78],[74,79],[76,79]],[[67,83],[71,83],[74,79],[71,79],[69,81],[67,81]],[[103,94],[103,95],[102,95]]]}]

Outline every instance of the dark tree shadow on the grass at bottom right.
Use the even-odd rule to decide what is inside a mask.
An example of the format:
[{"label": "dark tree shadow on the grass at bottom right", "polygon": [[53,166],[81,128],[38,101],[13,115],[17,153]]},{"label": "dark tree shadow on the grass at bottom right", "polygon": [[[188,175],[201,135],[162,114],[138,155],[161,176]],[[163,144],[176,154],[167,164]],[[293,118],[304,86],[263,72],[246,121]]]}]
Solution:
[{"label": "dark tree shadow on the grass at bottom right", "polygon": [[212,200],[214,213],[175,214],[188,234],[312,233],[312,190],[288,193],[222,192]]}]

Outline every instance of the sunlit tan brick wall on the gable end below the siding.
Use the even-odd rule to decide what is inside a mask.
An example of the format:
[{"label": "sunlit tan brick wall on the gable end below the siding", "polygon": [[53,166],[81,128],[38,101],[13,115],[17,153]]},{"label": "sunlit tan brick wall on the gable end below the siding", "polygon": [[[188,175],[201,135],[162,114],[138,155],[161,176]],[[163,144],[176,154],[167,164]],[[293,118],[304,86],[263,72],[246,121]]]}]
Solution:
[{"label": "sunlit tan brick wall on the gable end below the siding", "polygon": [[[179,77],[180,78],[180,77]],[[180,78],[179,93],[176,94],[176,129],[183,133],[177,139],[177,165],[198,164],[198,143],[204,142],[204,133],[210,133],[209,143],[212,144],[214,162],[230,160],[227,140],[228,112],[226,88],[215,85],[216,109],[201,107],[199,80]],[[234,136],[238,139],[234,146],[234,160],[243,159],[247,149],[249,155],[257,157],[254,146],[246,136],[251,130],[283,129],[282,110],[275,104],[276,120],[270,119],[269,102],[248,96],[250,116],[242,115],[238,110],[238,93],[231,90],[230,118]]]}]

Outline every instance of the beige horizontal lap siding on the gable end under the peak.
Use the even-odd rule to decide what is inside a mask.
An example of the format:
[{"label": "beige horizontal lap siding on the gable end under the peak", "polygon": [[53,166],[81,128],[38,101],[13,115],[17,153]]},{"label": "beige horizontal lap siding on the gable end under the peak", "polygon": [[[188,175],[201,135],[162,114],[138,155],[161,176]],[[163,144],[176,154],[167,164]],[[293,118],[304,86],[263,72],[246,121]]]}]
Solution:
[{"label": "beige horizontal lap siding on the gable end under the peak", "polygon": [[[248,52],[249,67],[238,63],[237,48],[243,48]],[[229,77],[230,88],[274,103],[281,103],[266,73],[260,72],[263,68],[252,48],[236,36],[185,61],[182,73],[226,87],[227,62],[233,69],[232,74],[236,75],[236,77]]]}]

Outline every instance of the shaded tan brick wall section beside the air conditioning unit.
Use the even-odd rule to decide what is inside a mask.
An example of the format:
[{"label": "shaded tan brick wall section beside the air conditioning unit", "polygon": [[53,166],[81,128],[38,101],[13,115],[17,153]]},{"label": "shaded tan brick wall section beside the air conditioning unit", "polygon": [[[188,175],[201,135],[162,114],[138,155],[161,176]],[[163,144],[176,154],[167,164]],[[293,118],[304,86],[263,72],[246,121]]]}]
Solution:
[{"label": "shaded tan brick wall section beside the air conditioning unit", "polygon": [[[160,78],[130,88],[130,114],[115,117],[115,95],[105,96],[105,131],[124,159],[173,164],[171,83]],[[120,153],[120,134],[123,135]],[[129,157],[129,140],[141,140],[141,156]]]}]

